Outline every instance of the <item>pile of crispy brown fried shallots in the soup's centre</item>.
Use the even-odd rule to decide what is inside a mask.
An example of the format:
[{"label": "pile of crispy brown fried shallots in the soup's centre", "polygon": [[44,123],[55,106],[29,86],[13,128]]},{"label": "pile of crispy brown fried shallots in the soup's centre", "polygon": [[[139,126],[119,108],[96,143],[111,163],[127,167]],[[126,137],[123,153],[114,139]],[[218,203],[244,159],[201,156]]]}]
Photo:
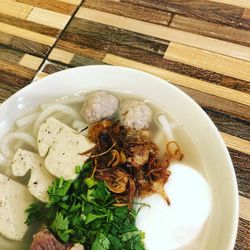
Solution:
[{"label": "pile of crispy brown fried shallots in the soup's centre", "polygon": [[117,206],[131,207],[134,198],[151,193],[160,194],[170,204],[164,191],[171,174],[168,166],[171,160],[183,157],[175,141],[167,143],[165,157],[160,160],[159,148],[147,130],[104,120],[91,125],[88,136],[95,147],[82,154],[93,160],[93,175],[106,183]]}]

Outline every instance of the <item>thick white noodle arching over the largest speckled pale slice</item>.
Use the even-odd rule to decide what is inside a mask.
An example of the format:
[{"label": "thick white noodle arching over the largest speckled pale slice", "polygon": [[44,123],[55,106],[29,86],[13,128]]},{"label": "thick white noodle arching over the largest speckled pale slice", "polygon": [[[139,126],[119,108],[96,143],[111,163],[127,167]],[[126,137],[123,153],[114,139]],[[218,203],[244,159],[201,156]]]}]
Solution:
[{"label": "thick white noodle arching over the largest speckled pale slice", "polygon": [[75,120],[80,120],[80,115],[71,107],[64,104],[54,104],[46,108],[44,111],[40,113],[34,123],[34,132],[37,133],[39,127],[42,123],[52,114],[57,112],[64,112],[70,115]]}]

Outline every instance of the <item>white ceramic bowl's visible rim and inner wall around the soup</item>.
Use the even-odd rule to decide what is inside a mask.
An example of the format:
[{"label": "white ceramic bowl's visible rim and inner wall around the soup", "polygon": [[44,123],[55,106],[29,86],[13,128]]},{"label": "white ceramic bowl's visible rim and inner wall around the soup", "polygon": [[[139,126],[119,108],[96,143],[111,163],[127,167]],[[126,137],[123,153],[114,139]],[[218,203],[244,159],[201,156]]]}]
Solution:
[{"label": "white ceramic bowl's visible rim and inner wall around the soup", "polygon": [[51,98],[93,89],[139,95],[167,109],[183,125],[201,152],[204,165],[209,166],[206,174],[213,212],[204,249],[233,249],[238,227],[238,189],[227,148],[200,106],[160,78],[114,66],[86,66],[55,73],[23,88],[0,106],[0,139],[17,118],[35,106]]}]

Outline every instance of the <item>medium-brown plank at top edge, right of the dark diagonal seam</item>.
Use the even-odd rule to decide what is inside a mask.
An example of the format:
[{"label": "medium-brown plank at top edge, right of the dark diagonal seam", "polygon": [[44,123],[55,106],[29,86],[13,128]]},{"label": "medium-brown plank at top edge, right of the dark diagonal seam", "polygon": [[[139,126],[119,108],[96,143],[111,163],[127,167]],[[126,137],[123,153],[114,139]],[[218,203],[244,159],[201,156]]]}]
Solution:
[{"label": "medium-brown plank at top edge, right of the dark diagonal seam", "polygon": [[131,17],[150,23],[167,26],[171,20],[171,14],[166,11],[156,10],[143,6],[135,6],[130,3],[122,3],[117,0],[85,0],[83,6],[116,15]]}]

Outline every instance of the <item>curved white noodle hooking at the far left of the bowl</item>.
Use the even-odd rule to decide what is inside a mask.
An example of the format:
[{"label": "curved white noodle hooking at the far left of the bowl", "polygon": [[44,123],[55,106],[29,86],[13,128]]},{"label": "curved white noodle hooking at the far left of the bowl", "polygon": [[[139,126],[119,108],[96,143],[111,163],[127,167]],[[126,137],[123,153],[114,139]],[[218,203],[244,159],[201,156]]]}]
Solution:
[{"label": "curved white noodle hooking at the far left of the bowl", "polygon": [[13,132],[13,133],[7,134],[1,142],[0,148],[1,148],[2,153],[5,156],[7,157],[11,156],[12,152],[11,152],[10,146],[11,146],[11,143],[16,140],[23,141],[24,143],[28,144],[34,149],[37,148],[36,140],[33,136],[24,132]]}]

